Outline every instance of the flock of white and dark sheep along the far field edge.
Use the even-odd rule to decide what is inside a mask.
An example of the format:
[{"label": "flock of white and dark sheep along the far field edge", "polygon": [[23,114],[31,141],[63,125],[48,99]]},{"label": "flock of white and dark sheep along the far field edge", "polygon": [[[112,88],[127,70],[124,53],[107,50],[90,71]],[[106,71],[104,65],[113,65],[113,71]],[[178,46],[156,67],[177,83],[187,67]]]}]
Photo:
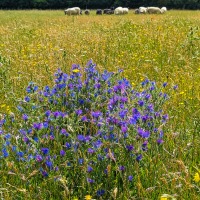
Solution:
[{"label": "flock of white and dark sheep along the far field edge", "polygon": [[[163,14],[167,11],[166,7],[158,8],[158,7],[139,7],[134,11],[135,14]],[[102,14],[115,14],[115,15],[124,15],[128,14],[129,9],[128,8],[122,8],[122,7],[117,7],[117,8],[111,8],[111,9],[97,9],[96,14],[97,15],[102,15]],[[73,7],[73,8],[68,8],[64,10],[65,15],[82,15],[82,10],[79,7]],[[86,9],[84,11],[86,15],[90,14],[90,10]]]}]

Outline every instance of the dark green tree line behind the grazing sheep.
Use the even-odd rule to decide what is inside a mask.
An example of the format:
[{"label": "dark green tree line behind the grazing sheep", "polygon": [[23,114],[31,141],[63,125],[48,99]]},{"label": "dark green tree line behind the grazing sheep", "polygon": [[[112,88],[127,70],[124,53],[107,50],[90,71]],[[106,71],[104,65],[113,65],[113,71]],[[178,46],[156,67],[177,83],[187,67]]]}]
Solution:
[{"label": "dark green tree line behind the grazing sheep", "polygon": [[0,9],[81,9],[158,6],[168,9],[200,9],[200,0],[0,0]]}]

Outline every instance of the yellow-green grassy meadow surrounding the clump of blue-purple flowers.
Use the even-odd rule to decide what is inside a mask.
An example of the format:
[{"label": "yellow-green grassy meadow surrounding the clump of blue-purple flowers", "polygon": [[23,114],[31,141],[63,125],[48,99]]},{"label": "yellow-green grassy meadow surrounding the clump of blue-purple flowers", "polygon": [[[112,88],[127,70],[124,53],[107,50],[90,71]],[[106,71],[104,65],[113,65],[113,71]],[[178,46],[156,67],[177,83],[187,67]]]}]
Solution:
[{"label": "yellow-green grassy meadow surrounding the clump of blue-purple flowers", "polygon": [[[89,16],[65,16],[61,10],[1,10],[0,197],[2,199],[199,199],[199,19],[200,11],[171,10],[163,15],[135,15],[130,11],[124,16],[96,16],[93,11]],[[86,183],[85,178],[88,167],[92,166],[92,169],[90,168],[92,171],[95,164],[83,163],[81,167],[74,164],[75,167],[70,173],[63,173],[60,170],[46,176],[38,170],[38,163],[33,163],[29,170],[27,166],[23,167],[25,164],[20,159],[12,162],[12,159],[15,159],[14,154],[12,159],[5,156],[5,151],[1,147],[7,141],[4,129],[7,133],[17,136],[18,129],[28,126],[25,120],[21,121],[20,109],[17,106],[27,97],[30,88],[31,92],[35,92],[33,91],[35,85],[32,82],[37,84],[38,88],[47,85],[53,87],[54,73],[57,73],[56,76],[60,73],[57,71],[58,68],[67,74],[74,73],[76,77],[76,73],[79,74],[81,69],[76,66],[70,70],[71,66],[79,64],[84,68],[90,59],[96,63],[99,73],[103,73],[104,70],[108,72],[123,70],[120,76],[129,80],[131,87],[141,93],[147,82],[150,84],[155,81],[160,88],[154,97],[155,105],[158,102],[160,105],[161,92],[168,94],[169,99],[166,103],[161,108],[158,106],[163,113],[168,114],[169,118],[161,125],[164,142],[157,145],[150,140],[149,150],[144,151],[143,159],[128,164],[132,169],[133,180],[128,176],[131,173],[126,174],[128,170],[122,166],[117,169],[115,159],[109,150],[107,153],[111,161],[104,165],[107,166],[107,171],[111,172],[106,178],[100,168],[96,172],[93,171],[93,177],[104,181],[95,183],[94,186],[91,186],[92,179]],[[30,97],[37,101],[35,94],[31,95]],[[93,101],[98,99],[94,98]],[[95,105],[92,106],[94,109]],[[97,108],[100,109],[98,104]],[[33,112],[29,109],[29,112],[30,116],[35,117],[34,120],[42,118],[38,114],[39,111]],[[95,118],[97,113],[93,114]],[[10,115],[14,115],[19,123],[13,125],[14,122],[9,121]],[[4,116],[9,118],[5,128],[2,122]],[[73,117],[76,118],[74,115]],[[74,127],[78,127],[76,121],[73,123]],[[75,130],[69,128],[68,132],[71,130],[71,134],[80,134],[80,130],[76,128]],[[96,128],[93,127],[92,130],[95,132]],[[38,131],[41,130],[38,128]],[[85,136],[85,133],[83,135]],[[14,139],[7,144],[8,149],[11,148],[10,142],[13,141]],[[54,144],[50,142],[48,145],[50,148]],[[59,145],[54,147],[60,148]],[[115,152],[115,155],[117,153],[120,156],[119,152]],[[88,152],[83,151],[82,154],[86,160]],[[64,156],[64,152],[61,152],[61,155]],[[121,156],[123,155],[125,154]],[[64,163],[64,158],[62,159],[57,162]],[[127,164],[128,161],[125,159],[123,163]],[[62,166],[59,167],[63,171],[66,170]],[[85,170],[83,174],[79,173],[81,170]],[[124,181],[126,175],[131,184]]]}]

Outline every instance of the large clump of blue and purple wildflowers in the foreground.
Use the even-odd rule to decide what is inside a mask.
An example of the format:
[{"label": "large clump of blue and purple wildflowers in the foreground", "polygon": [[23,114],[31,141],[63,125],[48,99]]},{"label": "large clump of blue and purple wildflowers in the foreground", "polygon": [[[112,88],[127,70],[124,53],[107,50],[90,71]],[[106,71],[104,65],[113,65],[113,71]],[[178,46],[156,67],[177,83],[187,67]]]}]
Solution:
[{"label": "large clump of blue and purple wildflowers in the foreground", "polygon": [[15,119],[0,121],[0,168],[10,160],[23,174],[65,177],[72,194],[84,186],[88,199],[134,188],[134,164],[164,142],[167,84],[146,79],[133,88],[122,74],[100,73],[89,61],[70,74],[58,69],[53,87],[31,82]]}]

